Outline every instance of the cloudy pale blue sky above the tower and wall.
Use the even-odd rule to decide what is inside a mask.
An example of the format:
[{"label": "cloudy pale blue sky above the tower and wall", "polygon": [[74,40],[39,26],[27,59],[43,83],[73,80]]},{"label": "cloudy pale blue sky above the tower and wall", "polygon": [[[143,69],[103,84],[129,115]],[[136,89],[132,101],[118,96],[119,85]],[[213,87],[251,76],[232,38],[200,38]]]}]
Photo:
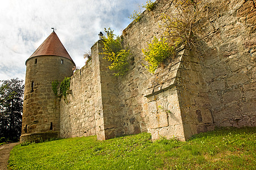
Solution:
[{"label": "cloudy pale blue sky above the tower and wall", "polygon": [[[129,16],[147,0],[0,0],[0,80],[25,79],[25,61],[51,34],[52,27],[76,66],[112,28],[121,35]],[[143,10],[143,8],[142,8]]]}]

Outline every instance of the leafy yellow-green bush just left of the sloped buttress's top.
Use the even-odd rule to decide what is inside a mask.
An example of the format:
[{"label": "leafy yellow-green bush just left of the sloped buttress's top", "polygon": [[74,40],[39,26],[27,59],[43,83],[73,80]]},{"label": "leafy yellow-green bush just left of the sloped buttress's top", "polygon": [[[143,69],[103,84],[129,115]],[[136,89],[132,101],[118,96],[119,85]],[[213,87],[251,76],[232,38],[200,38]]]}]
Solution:
[{"label": "leafy yellow-green bush just left of the sloped buttress's top", "polygon": [[154,37],[153,41],[148,44],[148,48],[142,49],[144,54],[144,61],[147,61],[148,65],[146,68],[150,73],[154,73],[158,68],[159,64],[163,62],[167,57],[170,57],[173,52],[174,47],[169,46],[166,39],[156,39]]}]

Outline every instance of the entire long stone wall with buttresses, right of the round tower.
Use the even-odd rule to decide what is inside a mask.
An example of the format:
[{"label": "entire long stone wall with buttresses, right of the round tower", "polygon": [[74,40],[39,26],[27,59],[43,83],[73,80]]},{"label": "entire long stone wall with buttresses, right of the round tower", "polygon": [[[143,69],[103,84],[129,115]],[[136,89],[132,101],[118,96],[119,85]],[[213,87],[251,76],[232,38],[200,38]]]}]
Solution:
[{"label": "entire long stone wall with buttresses, right of the round tower", "polygon": [[102,140],[147,131],[152,139],[184,141],[215,125],[255,126],[254,1],[211,1],[201,52],[180,48],[150,74],[142,49],[162,35],[161,14],[174,11],[172,1],[156,2],[123,30],[131,53],[126,75],[114,77],[99,53],[102,42],[94,44],[92,61],[72,76],[68,104],[61,99],[61,137],[97,134]]}]

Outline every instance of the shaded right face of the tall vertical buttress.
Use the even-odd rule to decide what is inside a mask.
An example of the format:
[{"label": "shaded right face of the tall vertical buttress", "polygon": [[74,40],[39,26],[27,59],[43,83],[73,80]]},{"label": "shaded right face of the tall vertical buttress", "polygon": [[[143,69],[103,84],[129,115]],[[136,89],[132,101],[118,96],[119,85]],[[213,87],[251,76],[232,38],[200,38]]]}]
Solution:
[{"label": "shaded right face of the tall vertical buttress", "polygon": [[[94,48],[94,47],[93,47]],[[120,112],[120,99],[118,96],[118,81],[117,77],[113,75],[113,71],[108,69],[111,62],[104,59],[102,55],[103,42],[98,41],[97,50],[100,65],[100,84],[101,84],[101,100],[102,100],[102,115],[104,122],[104,136],[97,134],[98,139],[110,139],[123,135],[123,114]],[[93,50],[93,49],[92,49]],[[96,117],[98,115],[96,114]]]}]

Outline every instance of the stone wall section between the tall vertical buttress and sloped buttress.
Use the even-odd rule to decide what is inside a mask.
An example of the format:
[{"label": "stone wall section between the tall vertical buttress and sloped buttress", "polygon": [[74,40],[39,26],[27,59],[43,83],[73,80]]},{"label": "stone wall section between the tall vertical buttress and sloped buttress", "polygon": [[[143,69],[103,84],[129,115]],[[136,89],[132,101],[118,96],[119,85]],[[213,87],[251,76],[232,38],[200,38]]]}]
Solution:
[{"label": "stone wall section between the tall vertical buttress and sloped buttress", "polygon": [[[158,1],[159,2],[159,1]],[[142,65],[142,49],[147,47],[154,36],[160,37],[160,13],[170,12],[170,2],[158,3],[154,11],[144,11],[142,18],[133,21],[123,30],[123,45],[131,53],[130,68],[126,75],[118,78],[119,99],[123,114],[123,131],[125,134],[136,134],[143,131],[151,132],[150,111],[148,111],[147,88],[152,83],[152,76]]]}]

